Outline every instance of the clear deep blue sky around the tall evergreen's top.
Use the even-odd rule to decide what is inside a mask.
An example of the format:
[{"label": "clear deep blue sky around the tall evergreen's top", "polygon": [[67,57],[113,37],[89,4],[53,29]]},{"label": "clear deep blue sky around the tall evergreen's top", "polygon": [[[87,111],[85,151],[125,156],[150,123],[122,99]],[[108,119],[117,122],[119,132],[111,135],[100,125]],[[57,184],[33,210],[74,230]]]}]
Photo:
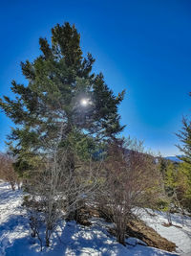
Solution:
[{"label": "clear deep blue sky around the tall evergreen's top", "polygon": [[[0,97],[11,96],[11,80],[24,82],[20,61],[39,55],[38,38],[65,21],[81,34],[84,54],[96,58],[120,105],[123,134],[144,140],[162,155],[180,153],[175,135],[190,115],[190,0],[8,0],[0,6]],[[0,150],[13,126],[0,113]]]}]

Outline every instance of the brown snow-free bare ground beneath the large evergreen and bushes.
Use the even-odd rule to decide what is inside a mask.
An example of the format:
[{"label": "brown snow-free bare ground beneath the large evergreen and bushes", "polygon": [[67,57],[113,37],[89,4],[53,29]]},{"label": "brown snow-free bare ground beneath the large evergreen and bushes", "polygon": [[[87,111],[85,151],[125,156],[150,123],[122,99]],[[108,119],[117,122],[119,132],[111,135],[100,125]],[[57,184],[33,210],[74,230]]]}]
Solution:
[{"label": "brown snow-free bare ground beneath the large evergreen and bushes", "polygon": [[[105,221],[109,221],[109,218],[106,218],[100,211],[91,207],[83,207],[79,210],[77,222],[89,226],[91,222],[88,221],[92,217],[103,218]],[[114,229],[108,229],[110,234],[116,234]],[[153,228],[147,226],[143,221],[131,221],[127,224],[127,237],[135,237],[148,246],[153,246],[162,250],[169,252],[176,250],[176,244],[168,241],[165,238],[162,238]]]}]

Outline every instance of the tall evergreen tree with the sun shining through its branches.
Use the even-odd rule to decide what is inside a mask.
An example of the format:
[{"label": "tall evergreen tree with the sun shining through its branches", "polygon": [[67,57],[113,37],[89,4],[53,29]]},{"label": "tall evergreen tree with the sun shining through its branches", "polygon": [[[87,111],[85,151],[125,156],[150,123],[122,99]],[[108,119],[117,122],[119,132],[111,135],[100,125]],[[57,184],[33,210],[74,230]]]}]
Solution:
[{"label": "tall evergreen tree with the sun shining through its branches", "polygon": [[124,128],[117,113],[124,91],[116,97],[103,75],[92,72],[95,59],[91,54],[83,57],[74,25],[56,25],[52,44],[46,38],[39,44],[42,54],[21,62],[27,84],[12,81],[15,99],[0,99],[0,107],[16,125],[9,140],[21,173],[35,169],[58,140],[59,147],[77,148],[81,143],[90,149],[93,142],[114,138]]}]

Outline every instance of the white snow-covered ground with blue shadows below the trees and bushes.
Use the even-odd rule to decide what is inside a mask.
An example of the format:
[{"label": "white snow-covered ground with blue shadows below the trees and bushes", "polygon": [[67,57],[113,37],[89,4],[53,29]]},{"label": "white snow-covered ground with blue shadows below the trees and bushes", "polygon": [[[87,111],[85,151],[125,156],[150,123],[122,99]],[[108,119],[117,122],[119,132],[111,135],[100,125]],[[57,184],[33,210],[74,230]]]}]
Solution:
[{"label": "white snow-covered ground with blue shadows below the trees and bushes", "polygon": [[[169,253],[138,244],[138,240],[134,238],[130,238],[127,241],[128,244],[132,245],[125,247],[118,244],[115,238],[103,227],[104,223],[100,219],[92,220],[93,225],[90,227],[83,227],[76,224],[74,221],[60,222],[56,232],[53,233],[52,246],[50,248],[44,247],[41,252],[38,241],[30,236],[27,213],[21,206],[21,203],[22,192],[12,192],[8,183],[0,182],[0,256],[177,255],[176,253]],[[187,255],[191,255],[189,254],[191,251],[189,251],[191,243],[189,238],[191,220],[186,219],[185,226],[182,229],[172,227],[173,229],[171,231],[171,229],[166,228],[165,232],[165,228],[161,225],[161,221],[164,221],[164,217],[159,216],[159,218],[160,219],[155,222],[152,221],[149,216],[146,216],[145,221],[147,221],[149,225],[157,227],[157,229],[159,229],[157,231],[159,231],[160,234],[163,232],[161,235],[167,239],[173,241],[172,237],[177,237],[176,241],[180,241],[180,243],[178,243],[179,250],[183,251],[185,247],[185,252],[188,253]],[[180,219],[178,218],[178,220]],[[178,220],[176,223],[180,224]],[[187,235],[185,236],[186,232]]]}]

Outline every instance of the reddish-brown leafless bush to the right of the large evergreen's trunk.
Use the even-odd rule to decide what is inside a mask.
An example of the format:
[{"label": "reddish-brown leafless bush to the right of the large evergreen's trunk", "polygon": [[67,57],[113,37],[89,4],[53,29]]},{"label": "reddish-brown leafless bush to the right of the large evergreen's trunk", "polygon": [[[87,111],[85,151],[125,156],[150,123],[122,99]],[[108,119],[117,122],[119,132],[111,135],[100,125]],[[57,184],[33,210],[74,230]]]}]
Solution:
[{"label": "reddish-brown leafless bush to the right of the large evergreen's trunk", "polygon": [[117,140],[108,149],[104,163],[98,203],[116,224],[117,242],[125,244],[128,221],[135,218],[135,208],[151,206],[157,192],[154,157],[144,153],[139,144]]}]

